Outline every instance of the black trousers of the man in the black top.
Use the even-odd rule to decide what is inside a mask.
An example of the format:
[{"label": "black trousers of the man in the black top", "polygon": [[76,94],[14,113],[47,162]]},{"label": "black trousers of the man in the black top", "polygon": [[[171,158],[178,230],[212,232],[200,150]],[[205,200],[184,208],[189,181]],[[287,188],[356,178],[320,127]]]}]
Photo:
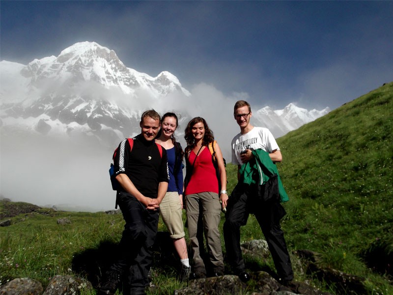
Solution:
[{"label": "black trousers of the man in the black top", "polygon": [[119,259],[109,271],[127,274],[130,294],[145,294],[148,273],[153,261],[152,246],[157,236],[159,211],[146,209],[135,197],[117,193],[117,203],[123,214],[124,231],[120,240]]}]

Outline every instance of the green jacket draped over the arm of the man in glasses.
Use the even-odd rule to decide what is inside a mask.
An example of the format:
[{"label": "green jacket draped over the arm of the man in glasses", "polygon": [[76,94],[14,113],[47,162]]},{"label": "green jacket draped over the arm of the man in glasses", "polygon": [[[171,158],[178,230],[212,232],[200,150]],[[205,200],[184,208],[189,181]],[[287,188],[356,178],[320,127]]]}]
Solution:
[{"label": "green jacket draped over the arm of the man in glasses", "polygon": [[240,182],[249,185],[263,185],[266,183],[266,181],[269,180],[269,177],[277,174],[280,200],[282,203],[289,201],[289,197],[285,192],[284,186],[282,185],[277,166],[273,163],[269,153],[263,149],[258,148],[253,150],[253,156],[253,160],[243,164],[240,168]]}]

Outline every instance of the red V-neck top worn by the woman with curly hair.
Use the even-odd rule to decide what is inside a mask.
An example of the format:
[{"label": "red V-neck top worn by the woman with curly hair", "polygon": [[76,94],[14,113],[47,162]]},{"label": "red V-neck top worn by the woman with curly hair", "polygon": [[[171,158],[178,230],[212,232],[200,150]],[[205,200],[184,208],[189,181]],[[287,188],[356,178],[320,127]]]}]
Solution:
[{"label": "red V-neck top worn by the woman with curly hair", "polygon": [[[189,164],[194,163],[196,154],[191,151],[188,158]],[[218,179],[216,169],[213,166],[212,155],[208,147],[197,156],[194,164],[193,174],[188,183],[185,195],[197,194],[202,192],[213,192],[218,194]]]}]

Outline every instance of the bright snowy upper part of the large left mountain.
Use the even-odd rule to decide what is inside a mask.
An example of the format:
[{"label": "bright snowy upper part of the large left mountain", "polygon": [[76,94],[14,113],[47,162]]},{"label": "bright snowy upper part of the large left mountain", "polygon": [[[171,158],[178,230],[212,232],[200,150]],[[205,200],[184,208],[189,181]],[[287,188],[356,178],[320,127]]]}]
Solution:
[{"label": "bright snowy upper part of the large left mountain", "polygon": [[133,94],[137,88],[150,91],[154,97],[170,91],[184,91],[179,80],[168,72],[153,78],[127,68],[113,50],[95,42],[76,43],[60,52],[58,57],[34,59],[21,71],[31,78],[32,84],[53,79],[58,84],[69,86],[81,81],[93,81],[106,89],[118,87],[126,94]]}]

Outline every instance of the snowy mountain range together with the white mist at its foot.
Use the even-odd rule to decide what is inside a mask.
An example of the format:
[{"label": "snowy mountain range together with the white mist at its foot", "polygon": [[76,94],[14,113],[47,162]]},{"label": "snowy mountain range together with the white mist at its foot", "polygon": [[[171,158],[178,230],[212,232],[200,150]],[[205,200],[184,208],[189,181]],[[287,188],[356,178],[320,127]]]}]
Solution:
[{"label": "snowy mountain range together with the white mist at its foot", "polygon": [[[1,196],[73,210],[113,208],[113,149],[140,133],[148,108],[178,115],[180,142],[192,117],[206,118],[230,161],[230,141],[239,130],[235,101],[217,92],[198,85],[190,93],[166,71],[157,77],[140,73],[94,42],[27,65],[0,61]],[[253,109],[252,120],[277,138],[328,111],[290,104],[278,111]]]}]

